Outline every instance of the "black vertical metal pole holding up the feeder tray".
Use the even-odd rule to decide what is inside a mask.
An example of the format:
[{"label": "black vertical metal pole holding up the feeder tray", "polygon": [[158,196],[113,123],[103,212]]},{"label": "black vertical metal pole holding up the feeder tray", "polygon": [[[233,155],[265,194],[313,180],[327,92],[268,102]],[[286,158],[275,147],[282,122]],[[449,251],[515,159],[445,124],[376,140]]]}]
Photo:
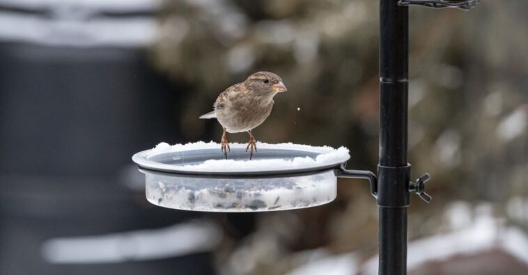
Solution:
[{"label": "black vertical metal pole holding up the feeder tray", "polygon": [[407,12],[380,0],[380,275],[407,274]]}]

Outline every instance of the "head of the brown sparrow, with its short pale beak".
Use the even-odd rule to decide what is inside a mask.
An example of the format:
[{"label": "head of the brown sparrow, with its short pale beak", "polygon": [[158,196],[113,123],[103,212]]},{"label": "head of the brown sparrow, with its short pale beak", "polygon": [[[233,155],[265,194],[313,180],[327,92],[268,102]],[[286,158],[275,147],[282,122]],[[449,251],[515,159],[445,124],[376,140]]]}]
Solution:
[{"label": "head of the brown sparrow, with its short pale beak", "polygon": [[271,72],[257,72],[251,74],[244,81],[249,90],[259,95],[274,95],[278,92],[286,92],[286,86],[277,74]]}]

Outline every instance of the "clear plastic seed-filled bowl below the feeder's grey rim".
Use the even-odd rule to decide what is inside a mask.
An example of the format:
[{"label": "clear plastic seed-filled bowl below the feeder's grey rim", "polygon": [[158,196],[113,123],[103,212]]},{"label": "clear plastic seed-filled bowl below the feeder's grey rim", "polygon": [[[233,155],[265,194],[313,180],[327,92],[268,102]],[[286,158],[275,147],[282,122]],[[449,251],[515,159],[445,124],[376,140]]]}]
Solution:
[{"label": "clear plastic seed-filled bowl below the feeder's grey rim", "polygon": [[280,178],[203,178],[143,172],[148,201],[166,208],[271,211],[319,206],[336,198],[334,170]]}]

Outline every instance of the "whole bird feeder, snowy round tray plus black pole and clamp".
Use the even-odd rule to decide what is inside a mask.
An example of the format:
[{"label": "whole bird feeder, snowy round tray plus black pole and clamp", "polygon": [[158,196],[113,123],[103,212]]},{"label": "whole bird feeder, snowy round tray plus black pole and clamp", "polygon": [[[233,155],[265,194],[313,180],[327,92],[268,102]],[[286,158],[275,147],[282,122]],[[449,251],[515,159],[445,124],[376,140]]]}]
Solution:
[{"label": "whole bird feeder, snowy round tray plus black pole and clamp", "polygon": [[[380,162],[372,172],[347,170],[348,152],[327,147],[262,144],[254,163],[245,145],[148,150],[134,155],[146,174],[147,199],[169,208],[247,212],[318,206],[336,197],[336,178],[366,178],[379,206],[379,274],[407,273],[410,192],[429,202],[424,174],[410,181],[407,163],[408,6],[469,10],[479,0],[380,0]],[[276,165],[262,165],[266,160]],[[301,161],[306,160],[306,161]],[[261,163],[262,164],[262,163]]]}]

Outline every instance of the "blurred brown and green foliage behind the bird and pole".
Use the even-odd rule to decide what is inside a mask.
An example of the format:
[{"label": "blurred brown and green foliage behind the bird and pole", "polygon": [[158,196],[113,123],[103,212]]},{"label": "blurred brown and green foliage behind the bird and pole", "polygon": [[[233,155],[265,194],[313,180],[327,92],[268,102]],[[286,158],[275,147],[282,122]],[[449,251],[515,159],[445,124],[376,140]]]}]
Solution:
[{"label": "blurred brown and green foliage behind the bird and pole", "polygon": [[[527,1],[482,1],[470,12],[411,8],[410,163],[414,176],[433,174],[434,203],[413,197],[410,238],[449,230],[439,215],[456,200],[492,201],[528,228],[526,215],[508,213],[511,198],[528,197],[527,9]],[[229,85],[267,70],[288,92],[256,128],[258,140],[343,145],[350,166],[375,169],[378,1],[173,0],[159,19],[153,60],[189,87],[180,91],[187,139],[209,128],[219,138],[217,122],[199,115]],[[220,253],[224,273],[281,274],[301,264],[292,251],[327,246],[368,256],[377,245],[377,208],[361,181],[343,181],[327,206],[259,221],[252,237]],[[235,263],[242,256],[244,265]]]}]

